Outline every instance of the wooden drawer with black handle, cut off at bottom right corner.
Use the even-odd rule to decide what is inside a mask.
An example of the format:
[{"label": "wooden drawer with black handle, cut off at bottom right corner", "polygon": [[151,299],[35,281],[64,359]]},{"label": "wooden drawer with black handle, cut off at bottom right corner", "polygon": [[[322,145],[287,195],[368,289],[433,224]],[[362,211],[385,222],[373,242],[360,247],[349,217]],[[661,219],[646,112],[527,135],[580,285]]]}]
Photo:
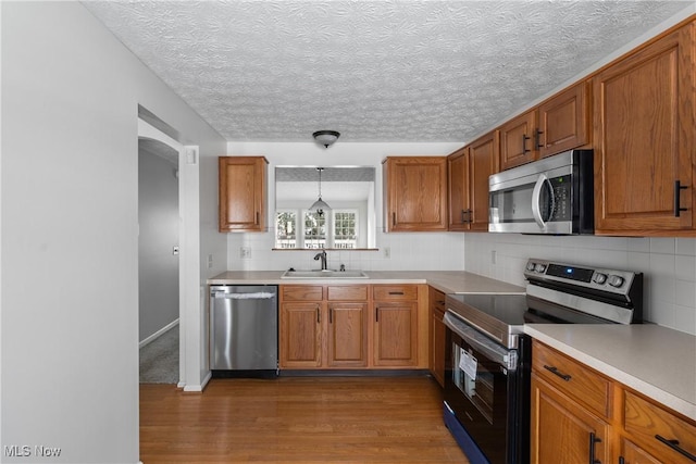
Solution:
[{"label": "wooden drawer with black handle, cut off at bottom right corner", "polygon": [[[696,456],[696,424],[629,391],[624,397],[624,428],[642,447],[663,456],[664,462],[692,462],[674,447]],[[666,443],[671,440],[676,442]]]}]

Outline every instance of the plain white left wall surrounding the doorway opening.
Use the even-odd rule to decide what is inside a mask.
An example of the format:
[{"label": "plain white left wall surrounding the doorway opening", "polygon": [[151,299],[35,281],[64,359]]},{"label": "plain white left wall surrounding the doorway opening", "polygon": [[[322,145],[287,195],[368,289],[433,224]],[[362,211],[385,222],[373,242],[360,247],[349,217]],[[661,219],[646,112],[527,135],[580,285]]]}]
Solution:
[{"label": "plain white left wall surrounding the doorway opening", "polygon": [[[211,226],[225,141],[80,3],[0,8],[0,452],[62,449],[2,460],[136,463],[138,104],[200,147],[197,251],[215,264],[199,263],[197,286],[226,264]],[[207,372],[202,308],[190,308],[194,383]]]}]

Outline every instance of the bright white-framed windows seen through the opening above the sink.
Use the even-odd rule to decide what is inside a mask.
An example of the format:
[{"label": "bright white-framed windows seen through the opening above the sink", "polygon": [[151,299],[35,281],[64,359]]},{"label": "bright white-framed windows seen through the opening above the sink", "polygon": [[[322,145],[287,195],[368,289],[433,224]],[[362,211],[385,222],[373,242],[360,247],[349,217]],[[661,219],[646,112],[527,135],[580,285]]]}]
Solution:
[{"label": "bright white-framed windows seen through the opening above the sink", "polygon": [[[298,217],[302,217],[301,224]],[[358,248],[358,210],[333,210],[318,216],[308,210],[277,210],[276,249]]]}]

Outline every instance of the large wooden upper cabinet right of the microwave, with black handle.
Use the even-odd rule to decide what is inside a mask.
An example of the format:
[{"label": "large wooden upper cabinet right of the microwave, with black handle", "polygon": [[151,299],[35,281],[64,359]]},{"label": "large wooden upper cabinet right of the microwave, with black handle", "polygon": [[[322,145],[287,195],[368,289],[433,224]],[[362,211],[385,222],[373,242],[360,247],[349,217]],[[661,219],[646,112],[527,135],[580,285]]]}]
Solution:
[{"label": "large wooden upper cabinet right of the microwave, with black handle", "polygon": [[695,29],[689,23],[593,79],[596,234],[693,235]]}]

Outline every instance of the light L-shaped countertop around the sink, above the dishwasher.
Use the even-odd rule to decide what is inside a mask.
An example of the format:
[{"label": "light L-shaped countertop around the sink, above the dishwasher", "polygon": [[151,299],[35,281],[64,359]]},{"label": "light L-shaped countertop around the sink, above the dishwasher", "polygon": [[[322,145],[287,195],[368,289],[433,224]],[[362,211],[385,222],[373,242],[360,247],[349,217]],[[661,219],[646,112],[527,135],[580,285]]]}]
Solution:
[{"label": "light L-shaped countertop around the sink, above the dishwasher", "polygon": [[368,278],[282,279],[284,271],[227,271],[209,285],[427,284],[444,293],[524,293],[524,287],[463,271],[365,271]]}]

